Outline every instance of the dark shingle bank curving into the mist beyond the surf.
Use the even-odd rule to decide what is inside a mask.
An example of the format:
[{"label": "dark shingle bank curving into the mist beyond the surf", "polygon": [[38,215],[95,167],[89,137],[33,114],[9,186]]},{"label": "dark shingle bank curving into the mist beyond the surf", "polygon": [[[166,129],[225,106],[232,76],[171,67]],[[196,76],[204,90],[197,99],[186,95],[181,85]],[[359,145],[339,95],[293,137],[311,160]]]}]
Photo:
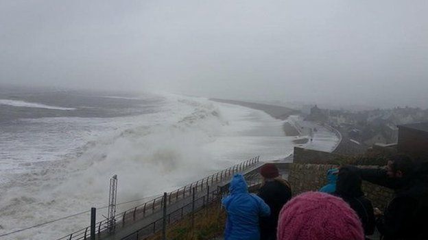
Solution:
[{"label": "dark shingle bank curving into the mist beyond the surf", "polygon": [[[210,98],[211,101],[219,102],[219,103],[229,103],[234,105],[240,105],[243,107],[249,107],[251,109],[257,109],[264,111],[266,114],[269,114],[273,118],[279,120],[286,120],[290,115],[299,114],[300,111],[295,109],[290,109],[288,107],[282,107],[277,105],[268,105],[263,103],[249,103],[244,101],[236,101],[236,100],[227,100],[227,99],[219,99],[219,98]],[[289,122],[284,122],[283,131],[286,136],[298,136],[300,135],[299,131],[296,129],[293,124]]]}]

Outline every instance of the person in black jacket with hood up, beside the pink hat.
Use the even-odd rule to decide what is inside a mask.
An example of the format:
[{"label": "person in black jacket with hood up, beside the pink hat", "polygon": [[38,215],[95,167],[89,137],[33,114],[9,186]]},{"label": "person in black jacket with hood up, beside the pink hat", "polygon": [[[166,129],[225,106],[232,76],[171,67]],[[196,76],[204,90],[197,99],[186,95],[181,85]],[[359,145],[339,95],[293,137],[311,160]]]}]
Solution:
[{"label": "person in black jacket with hood up, beside the pink hat", "polygon": [[375,232],[375,214],[372,202],[361,191],[361,182],[361,177],[355,170],[346,167],[340,168],[334,195],[348,202],[363,224],[364,235],[368,236]]}]

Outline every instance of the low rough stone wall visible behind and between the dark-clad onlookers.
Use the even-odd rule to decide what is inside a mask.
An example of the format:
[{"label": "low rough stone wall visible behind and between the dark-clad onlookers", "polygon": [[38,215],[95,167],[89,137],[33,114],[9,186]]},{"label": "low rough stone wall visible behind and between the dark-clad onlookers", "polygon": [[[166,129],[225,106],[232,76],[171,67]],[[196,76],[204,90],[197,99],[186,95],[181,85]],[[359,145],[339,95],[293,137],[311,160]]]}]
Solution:
[{"label": "low rough stone wall visible behind and between the dark-clad onlookers", "polygon": [[[337,165],[332,164],[311,164],[293,163],[290,166],[288,176],[292,185],[293,195],[301,194],[305,191],[317,191],[327,184],[326,172]],[[364,166],[361,168],[377,168],[376,166]],[[367,198],[372,201],[374,207],[385,209],[385,206],[392,199],[392,191],[385,187],[380,187],[366,181],[363,182],[362,190]]]}]

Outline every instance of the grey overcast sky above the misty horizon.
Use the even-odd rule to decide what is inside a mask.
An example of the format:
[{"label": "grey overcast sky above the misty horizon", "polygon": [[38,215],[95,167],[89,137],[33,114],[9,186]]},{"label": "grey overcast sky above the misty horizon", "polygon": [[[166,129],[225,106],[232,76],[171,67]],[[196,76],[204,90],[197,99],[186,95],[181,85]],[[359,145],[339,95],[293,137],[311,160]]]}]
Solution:
[{"label": "grey overcast sky above the misty horizon", "polygon": [[427,12],[427,0],[1,0],[0,83],[428,107]]}]

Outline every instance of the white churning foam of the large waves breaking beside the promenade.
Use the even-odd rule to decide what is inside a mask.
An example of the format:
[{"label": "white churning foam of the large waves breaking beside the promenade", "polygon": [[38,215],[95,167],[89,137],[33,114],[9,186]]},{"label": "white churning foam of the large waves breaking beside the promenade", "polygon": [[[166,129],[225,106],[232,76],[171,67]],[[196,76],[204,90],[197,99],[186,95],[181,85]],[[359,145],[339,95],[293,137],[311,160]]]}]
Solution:
[{"label": "white churning foam of the large waves breaking beside the promenade", "polygon": [[[106,205],[112,174],[119,176],[118,198],[123,202],[174,189],[217,170],[201,146],[213,141],[224,124],[218,110],[175,96],[159,107],[159,113],[136,117],[23,120],[27,129],[19,133],[18,147],[4,151],[10,161],[18,161],[12,161],[12,170],[2,171],[10,181],[1,185],[0,235]],[[64,155],[80,144],[74,154]],[[99,211],[98,217],[102,214]],[[82,215],[5,239],[55,239],[86,226],[87,219]]]}]

